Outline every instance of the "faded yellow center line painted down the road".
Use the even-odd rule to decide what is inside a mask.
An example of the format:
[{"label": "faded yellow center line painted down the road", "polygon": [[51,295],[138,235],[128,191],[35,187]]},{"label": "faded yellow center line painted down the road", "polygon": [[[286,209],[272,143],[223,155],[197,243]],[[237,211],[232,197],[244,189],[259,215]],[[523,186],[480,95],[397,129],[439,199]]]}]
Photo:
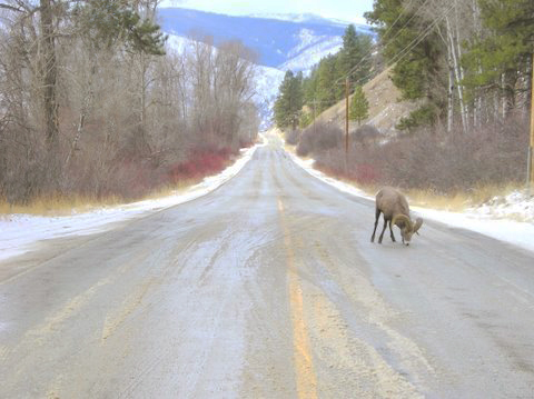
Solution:
[{"label": "faded yellow center line painted down the road", "polygon": [[304,318],[303,289],[297,273],[295,253],[289,229],[284,213],[284,203],[278,198],[281,228],[284,230],[284,247],[288,265],[289,305],[293,321],[294,360],[299,398],[317,398],[317,377],[314,371],[309,337]]}]

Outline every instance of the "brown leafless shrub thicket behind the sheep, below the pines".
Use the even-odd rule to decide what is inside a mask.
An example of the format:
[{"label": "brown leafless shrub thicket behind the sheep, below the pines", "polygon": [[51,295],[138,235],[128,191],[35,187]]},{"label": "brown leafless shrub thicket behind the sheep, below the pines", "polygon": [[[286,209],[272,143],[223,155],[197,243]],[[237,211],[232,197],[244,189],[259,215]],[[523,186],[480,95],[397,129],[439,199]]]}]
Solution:
[{"label": "brown leafless shrub thicket behind the sheep, below the pines", "polygon": [[436,193],[468,192],[525,179],[528,121],[510,119],[468,133],[418,131],[385,144],[352,141],[316,156],[319,168],[360,184],[392,184]]}]

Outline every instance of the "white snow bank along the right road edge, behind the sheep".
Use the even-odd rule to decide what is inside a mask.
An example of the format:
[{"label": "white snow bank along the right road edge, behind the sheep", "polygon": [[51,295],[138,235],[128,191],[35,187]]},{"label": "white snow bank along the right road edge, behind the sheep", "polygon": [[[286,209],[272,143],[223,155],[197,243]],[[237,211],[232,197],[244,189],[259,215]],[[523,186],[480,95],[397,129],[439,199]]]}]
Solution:
[{"label": "white snow bank along the right road edge, behind the sheep", "polygon": [[[314,169],[314,160],[303,160],[294,153],[289,153],[293,160],[308,173],[336,187],[338,190],[356,197],[368,196],[352,184],[336,180]],[[454,228],[476,231],[500,241],[534,251],[534,199],[526,194],[514,192],[505,198],[495,198],[493,201],[477,208],[469,208],[465,212],[441,211],[421,207],[411,207],[414,213],[423,218],[435,220]],[[503,218],[520,218],[515,221]]]}]

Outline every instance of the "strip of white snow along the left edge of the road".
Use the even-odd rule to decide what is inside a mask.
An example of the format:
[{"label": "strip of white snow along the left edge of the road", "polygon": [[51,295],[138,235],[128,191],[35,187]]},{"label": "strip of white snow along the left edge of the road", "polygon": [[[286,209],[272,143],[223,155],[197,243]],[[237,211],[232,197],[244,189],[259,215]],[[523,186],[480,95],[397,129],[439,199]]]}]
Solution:
[{"label": "strip of white snow along the left edge of the road", "polygon": [[150,211],[158,211],[205,196],[236,176],[260,146],[264,144],[241,149],[241,154],[237,161],[219,174],[207,177],[200,183],[168,197],[106,207],[71,216],[3,216],[0,219],[0,260],[27,252],[31,245],[37,241],[105,231],[113,222],[132,219]]}]

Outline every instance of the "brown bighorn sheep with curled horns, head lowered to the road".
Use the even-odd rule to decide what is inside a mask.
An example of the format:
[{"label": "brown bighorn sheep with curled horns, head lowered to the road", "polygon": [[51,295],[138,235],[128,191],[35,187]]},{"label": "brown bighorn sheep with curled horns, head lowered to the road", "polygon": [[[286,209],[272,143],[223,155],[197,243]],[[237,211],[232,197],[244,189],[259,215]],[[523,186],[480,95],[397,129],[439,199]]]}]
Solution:
[{"label": "brown bighorn sheep with curled horns, head lowered to the road", "polygon": [[384,213],[384,229],[378,238],[378,243],[382,243],[382,239],[384,238],[384,232],[386,231],[388,222],[393,242],[395,242],[395,236],[393,235],[392,225],[396,225],[400,229],[403,243],[406,246],[409,246],[412,236],[417,233],[421,225],[423,225],[422,218],[417,218],[415,223],[409,218],[409,207],[408,201],[406,201],[406,197],[390,187],[384,187],[376,193],[375,229],[373,230],[370,242],[375,242],[375,232],[376,227],[378,226],[378,218],[380,217],[380,213]]}]

